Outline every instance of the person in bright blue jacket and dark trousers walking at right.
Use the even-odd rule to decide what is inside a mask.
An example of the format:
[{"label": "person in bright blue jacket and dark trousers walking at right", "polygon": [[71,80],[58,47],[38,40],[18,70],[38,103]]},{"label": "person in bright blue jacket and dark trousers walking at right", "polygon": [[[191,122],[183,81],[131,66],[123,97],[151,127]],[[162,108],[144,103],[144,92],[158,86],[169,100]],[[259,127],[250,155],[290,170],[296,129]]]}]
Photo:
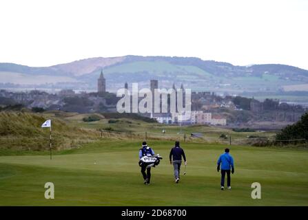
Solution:
[{"label": "person in bright blue jacket and dark trousers walking at right", "polygon": [[225,153],[220,155],[217,161],[217,172],[220,170],[220,164],[221,164],[221,190],[225,189],[225,174],[227,173],[227,188],[228,190],[231,190],[231,173],[234,174],[234,161],[232,155],[229,154],[230,150],[229,148],[225,148]]}]

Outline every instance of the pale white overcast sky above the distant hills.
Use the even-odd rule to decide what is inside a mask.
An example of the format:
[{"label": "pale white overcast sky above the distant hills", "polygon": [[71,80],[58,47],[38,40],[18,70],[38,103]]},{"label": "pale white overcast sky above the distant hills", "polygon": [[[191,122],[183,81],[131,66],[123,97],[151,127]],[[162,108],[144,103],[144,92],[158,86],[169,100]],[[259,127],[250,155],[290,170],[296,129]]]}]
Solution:
[{"label": "pale white overcast sky above the distant hills", "polygon": [[0,63],[194,56],[308,69],[307,0],[1,0]]}]

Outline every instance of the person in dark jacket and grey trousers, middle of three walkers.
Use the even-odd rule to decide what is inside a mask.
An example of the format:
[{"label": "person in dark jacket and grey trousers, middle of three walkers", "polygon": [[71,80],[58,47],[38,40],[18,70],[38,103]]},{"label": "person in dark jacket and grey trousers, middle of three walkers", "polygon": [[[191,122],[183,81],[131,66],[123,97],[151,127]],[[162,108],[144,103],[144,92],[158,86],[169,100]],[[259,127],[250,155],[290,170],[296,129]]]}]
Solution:
[{"label": "person in dark jacket and grey trousers, middle of three walkers", "polygon": [[[173,162],[174,178],[175,178],[176,184],[178,183],[178,181],[180,181],[180,168],[182,164],[182,156],[183,156],[185,166],[186,166],[187,162],[186,162],[184,150],[180,147],[180,142],[176,141],[176,144],[174,148],[171,149],[170,155],[169,155],[170,164],[172,164]],[[173,157],[173,161],[172,161],[172,157]]]}]

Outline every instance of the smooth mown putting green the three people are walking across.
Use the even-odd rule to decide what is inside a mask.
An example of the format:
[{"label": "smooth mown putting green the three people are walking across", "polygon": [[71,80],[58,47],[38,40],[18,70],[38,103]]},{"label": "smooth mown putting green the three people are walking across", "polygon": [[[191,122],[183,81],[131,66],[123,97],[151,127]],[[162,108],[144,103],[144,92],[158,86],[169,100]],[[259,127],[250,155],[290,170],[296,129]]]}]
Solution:
[{"label": "smooth mown putting green the three people are walking across", "polygon": [[[173,142],[150,140],[148,144],[163,160],[152,168],[152,184],[144,186],[137,163],[141,141],[104,139],[54,152],[52,160],[45,151],[14,155],[16,152],[6,149],[6,156],[0,157],[0,205],[308,205],[307,150],[231,146],[236,173],[232,175],[232,190],[221,191],[216,159],[225,145],[183,143],[187,175],[182,175],[180,184],[174,184],[167,158]],[[44,198],[47,181],[54,183],[55,199]],[[262,199],[250,197],[255,181],[262,185]]]}]

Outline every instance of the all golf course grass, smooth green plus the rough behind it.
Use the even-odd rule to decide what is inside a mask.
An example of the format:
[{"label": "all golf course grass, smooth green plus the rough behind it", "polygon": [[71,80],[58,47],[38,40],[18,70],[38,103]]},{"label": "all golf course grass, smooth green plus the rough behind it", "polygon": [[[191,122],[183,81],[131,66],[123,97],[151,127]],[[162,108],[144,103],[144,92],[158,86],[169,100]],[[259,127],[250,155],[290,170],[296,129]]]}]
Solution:
[{"label": "all golf course grass, smooth green plus the rough behind it", "polygon": [[[232,190],[220,191],[216,159],[227,144],[198,143],[189,133],[203,133],[213,140],[221,134],[243,138],[258,133],[236,133],[212,126],[167,126],[142,120],[101,118],[83,122],[90,114],[50,111],[1,113],[0,115],[0,206],[307,206],[307,148],[264,148],[232,145],[236,174]],[[41,124],[51,118],[54,142],[59,146],[49,159],[48,129]],[[99,138],[97,129],[140,133]],[[148,140],[164,159],[152,168],[152,184],[143,185],[138,149],[145,131],[170,140]],[[156,133],[154,135],[154,133]],[[188,159],[187,175],[174,184],[168,163],[174,140],[187,133],[183,143]],[[261,135],[261,134],[260,134]],[[262,135],[271,137],[274,133]],[[107,135],[108,136],[108,135]],[[68,143],[70,142],[70,143]],[[74,142],[74,144],[72,144]],[[28,146],[28,147],[25,147]],[[45,182],[55,185],[55,199],[44,198]],[[260,182],[262,199],[251,199],[251,184]],[[150,190],[149,190],[150,188]],[[151,199],[148,199],[148,197]]]}]

